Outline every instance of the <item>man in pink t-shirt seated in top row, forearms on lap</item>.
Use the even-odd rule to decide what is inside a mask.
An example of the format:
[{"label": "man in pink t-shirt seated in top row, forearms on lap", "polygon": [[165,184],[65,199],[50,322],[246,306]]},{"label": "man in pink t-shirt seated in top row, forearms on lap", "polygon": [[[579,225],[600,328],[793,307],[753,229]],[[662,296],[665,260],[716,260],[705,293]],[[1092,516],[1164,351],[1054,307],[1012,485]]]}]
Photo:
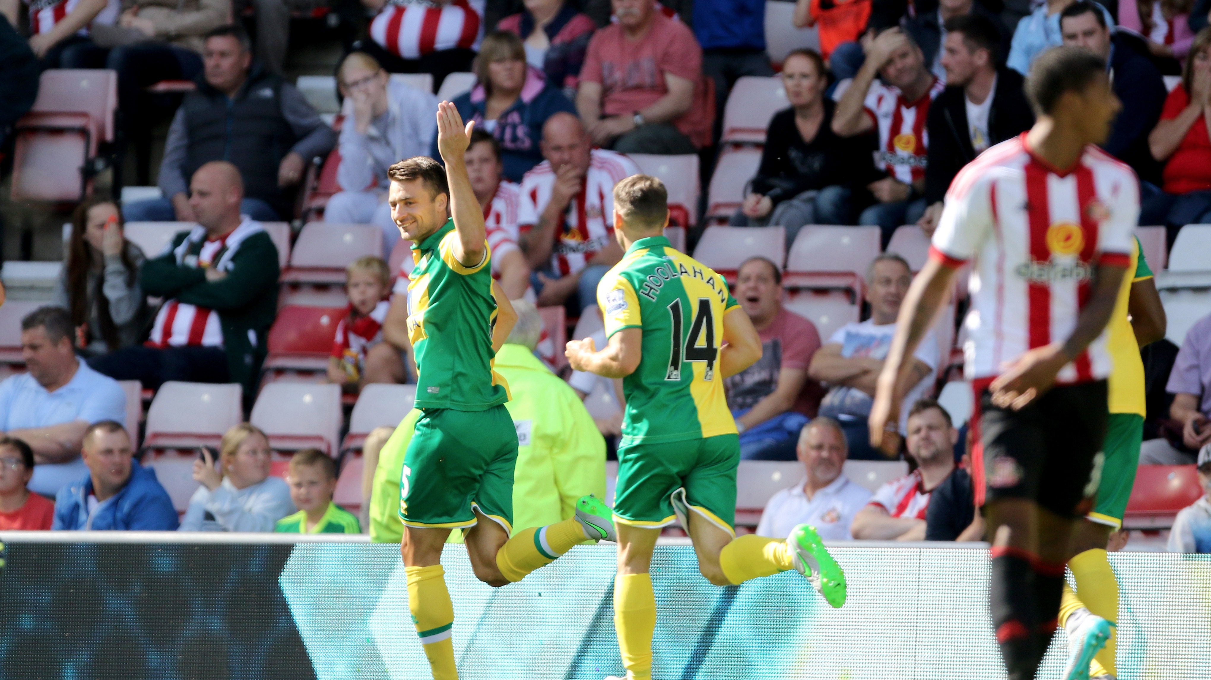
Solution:
[{"label": "man in pink t-shirt seated in top row, forearms on lap", "polygon": [[655,0],[613,0],[618,23],[589,42],[576,110],[593,145],[624,154],[693,154],[714,120],[702,48]]}]

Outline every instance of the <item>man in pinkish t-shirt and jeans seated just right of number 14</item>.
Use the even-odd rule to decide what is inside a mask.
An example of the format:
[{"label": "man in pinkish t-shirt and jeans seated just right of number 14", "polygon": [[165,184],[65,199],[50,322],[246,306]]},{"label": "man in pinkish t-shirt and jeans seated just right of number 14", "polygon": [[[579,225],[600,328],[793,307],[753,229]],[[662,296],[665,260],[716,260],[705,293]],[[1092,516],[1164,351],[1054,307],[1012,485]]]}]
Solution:
[{"label": "man in pinkish t-shirt and jeans seated just right of number 14", "polygon": [[762,358],[724,381],[728,408],[740,430],[746,461],[793,461],[799,430],[816,415],[823,390],[808,379],[820,333],[803,316],[782,308],[782,273],[764,257],[751,257],[733,290],[761,335]]}]

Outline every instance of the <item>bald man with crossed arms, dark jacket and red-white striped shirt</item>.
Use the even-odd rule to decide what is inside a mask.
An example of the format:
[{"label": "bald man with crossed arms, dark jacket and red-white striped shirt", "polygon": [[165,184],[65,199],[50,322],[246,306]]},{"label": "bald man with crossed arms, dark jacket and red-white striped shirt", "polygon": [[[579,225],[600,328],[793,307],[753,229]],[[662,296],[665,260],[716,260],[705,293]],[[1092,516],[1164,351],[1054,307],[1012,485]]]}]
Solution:
[{"label": "bald man with crossed arms, dark jacket and red-white striped shirt", "polygon": [[265,358],[277,312],[277,247],[240,215],[243,182],[226,161],[194,172],[189,206],[197,218],[168,252],[143,264],[142,285],[165,299],[143,345],[88,362],[120,381],[159,389],[166,381],[240,383],[246,398]]}]

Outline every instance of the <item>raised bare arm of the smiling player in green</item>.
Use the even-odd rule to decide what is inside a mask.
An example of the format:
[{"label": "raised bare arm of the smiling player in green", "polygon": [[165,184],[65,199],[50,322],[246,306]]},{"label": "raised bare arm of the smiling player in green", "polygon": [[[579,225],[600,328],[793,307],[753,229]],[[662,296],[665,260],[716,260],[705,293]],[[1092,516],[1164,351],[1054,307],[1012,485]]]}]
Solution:
[{"label": "raised bare arm of the smiling player in green", "polygon": [[488,233],[483,225],[483,208],[480,207],[471,178],[466,175],[464,155],[471,142],[471,128],[475,121],[463,126],[463,116],[449,102],[437,104],[437,150],[446,164],[446,181],[450,188],[450,216],[454,218],[454,258],[463,267],[478,267],[483,263],[488,247]]}]

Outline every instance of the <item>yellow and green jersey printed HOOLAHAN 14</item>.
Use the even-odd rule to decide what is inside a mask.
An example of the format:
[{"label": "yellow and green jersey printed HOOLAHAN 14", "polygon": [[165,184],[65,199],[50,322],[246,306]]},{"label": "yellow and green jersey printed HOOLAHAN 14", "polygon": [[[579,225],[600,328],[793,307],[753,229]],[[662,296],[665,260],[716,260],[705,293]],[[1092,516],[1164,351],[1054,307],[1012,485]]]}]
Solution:
[{"label": "yellow and green jersey printed HOOLAHAN 14", "polygon": [[736,433],[719,345],[723,315],[739,308],[723,276],[664,236],[639,239],[597,285],[597,304],[607,338],[643,328],[643,358],[622,379],[620,446]]}]

